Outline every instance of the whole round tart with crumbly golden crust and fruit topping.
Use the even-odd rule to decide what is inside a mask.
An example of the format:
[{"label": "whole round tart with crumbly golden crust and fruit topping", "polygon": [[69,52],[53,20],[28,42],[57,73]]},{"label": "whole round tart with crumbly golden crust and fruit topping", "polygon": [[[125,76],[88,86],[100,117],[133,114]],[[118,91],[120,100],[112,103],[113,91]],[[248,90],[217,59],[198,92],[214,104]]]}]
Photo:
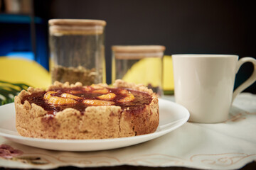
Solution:
[{"label": "whole round tart with crumbly golden crust and fruit topping", "polygon": [[16,130],[24,137],[107,139],[155,132],[156,94],[143,85],[117,80],[82,86],[58,81],[48,89],[28,88],[14,98]]}]

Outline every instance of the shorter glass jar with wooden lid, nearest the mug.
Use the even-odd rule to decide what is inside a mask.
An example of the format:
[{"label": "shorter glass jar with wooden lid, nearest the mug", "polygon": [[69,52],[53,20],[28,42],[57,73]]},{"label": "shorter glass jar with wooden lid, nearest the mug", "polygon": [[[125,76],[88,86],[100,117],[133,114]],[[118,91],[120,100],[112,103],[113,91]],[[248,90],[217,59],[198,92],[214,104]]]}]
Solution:
[{"label": "shorter glass jar with wooden lid, nearest the mug", "polygon": [[163,95],[162,45],[114,45],[112,46],[112,84],[122,79],[144,84],[159,96]]}]

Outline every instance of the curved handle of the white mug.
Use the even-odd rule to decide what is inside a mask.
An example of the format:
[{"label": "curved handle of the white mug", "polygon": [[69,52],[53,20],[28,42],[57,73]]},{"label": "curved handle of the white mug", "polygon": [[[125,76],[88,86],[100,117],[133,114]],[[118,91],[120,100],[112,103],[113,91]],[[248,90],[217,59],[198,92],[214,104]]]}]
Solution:
[{"label": "curved handle of the white mug", "polygon": [[240,60],[238,60],[238,64],[236,67],[236,73],[238,73],[238,70],[240,69],[242,64],[244,64],[245,62],[251,62],[253,64],[253,72],[252,72],[252,75],[245,82],[240,84],[240,86],[238,86],[238,88],[235,89],[235,91],[233,92],[232,103],[233,103],[235,97],[238,96],[238,94],[240,94],[244,89],[246,89],[248,86],[253,84],[254,81],[256,80],[256,60],[252,57],[243,57]]}]

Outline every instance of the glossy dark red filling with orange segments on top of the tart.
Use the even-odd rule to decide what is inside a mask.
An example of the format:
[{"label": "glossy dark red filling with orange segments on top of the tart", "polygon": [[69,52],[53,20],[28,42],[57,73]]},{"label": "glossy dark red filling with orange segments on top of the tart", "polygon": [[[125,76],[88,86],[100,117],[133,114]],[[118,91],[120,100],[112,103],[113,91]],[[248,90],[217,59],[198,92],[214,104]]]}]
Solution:
[{"label": "glossy dark red filling with orange segments on top of the tart", "polygon": [[122,110],[133,108],[130,111],[135,112],[151,100],[151,96],[142,91],[92,85],[41,91],[24,96],[21,103],[35,103],[48,111],[48,114],[55,115],[65,108],[75,108],[83,113],[88,106],[120,106]]}]

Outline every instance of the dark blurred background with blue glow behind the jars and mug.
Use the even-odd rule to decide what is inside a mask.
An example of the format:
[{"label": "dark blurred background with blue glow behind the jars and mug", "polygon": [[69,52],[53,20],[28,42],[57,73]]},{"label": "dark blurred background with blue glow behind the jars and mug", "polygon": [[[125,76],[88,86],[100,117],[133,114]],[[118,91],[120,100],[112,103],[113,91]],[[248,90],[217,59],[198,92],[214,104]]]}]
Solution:
[{"label": "dark blurred background with blue glow behind the jars and mug", "polygon": [[[20,5],[19,10],[10,3]],[[12,5],[14,6],[14,4]],[[0,0],[0,56],[21,52],[48,69],[48,19],[107,21],[105,56],[111,82],[112,45],[164,45],[165,55],[256,57],[254,1],[235,0]],[[235,87],[252,73],[242,66]],[[245,90],[256,94],[256,83]]]}]

